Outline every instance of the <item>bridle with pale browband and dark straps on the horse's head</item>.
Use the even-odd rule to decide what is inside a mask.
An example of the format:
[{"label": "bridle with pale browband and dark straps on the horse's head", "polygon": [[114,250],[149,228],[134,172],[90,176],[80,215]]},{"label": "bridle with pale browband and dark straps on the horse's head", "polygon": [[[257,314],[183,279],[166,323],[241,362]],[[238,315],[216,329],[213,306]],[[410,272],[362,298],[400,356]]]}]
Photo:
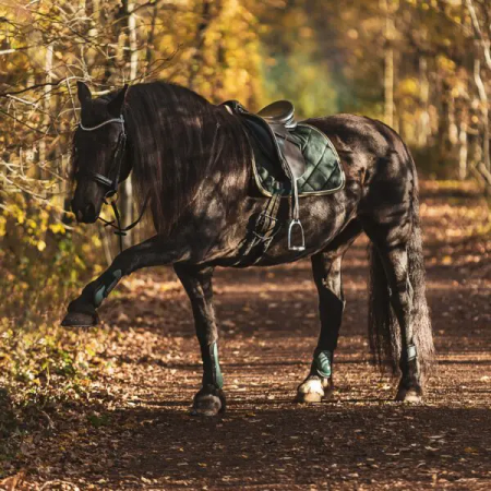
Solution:
[{"label": "bridle with pale browband and dark straps on the horse's head", "polygon": [[[120,181],[120,177],[121,177],[121,167],[122,167],[124,152],[127,148],[127,131],[124,128],[124,118],[122,115],[120,115],[119,118],[108,119],[106,121],[103,121],[99,124],[96,124],[95,127],[85,127],[82,123],[82,121],[80,121],[80,123],[79,123],[79,128],[83,131],[96,131],[99,128],[103,128],[106,124],[110,124],[110,123],[121,124],[121,132],[119,133],[118,144],[116,146],[116,151],[115,151],[115,154],[112,157],[112,165],[109,170],[109,177],[106,177],[99,172],[94,172],[93,170],[89,170],[89,169],[81,169],[76,172],[77,177],[79,176],[87,177],[88,179],[93,180],[94,182],[101,185],[106,190],[106,192],[104,194],[104,203],[105,204],[108,204],[107,200],[111,199],[115,195],[116,196],[118,195],[118,185],[119,185],[119,181]],[[143,214],[145,213],[146,205],[148,204],[148,197],[149,197],[149,194],[147,194],[145,197],[145,201],[143,203],[143,207],[142,207],[142,211],[140,212],[139,217],[136,218],[135,221],[130,224],[128,227],[124,227],[124,228],[121,227],[121,214],[119,213],[118,205],[117,205],[118,197],[110,201],[112,212],[115,213],[115,220],[108,221],[100,216],[97,217],[100,221],[104,221],[105,227],[112,227],[116,229],[115,233],[117,236],[119,236],[119,249],[121,252],[123,251],[122,237],[125,236],[129,230],[131,230],[133,227],[135,227],[140,223],[140,220],[143,218]],[[115,221],[116,221],[116,225],[115,225]]]}]

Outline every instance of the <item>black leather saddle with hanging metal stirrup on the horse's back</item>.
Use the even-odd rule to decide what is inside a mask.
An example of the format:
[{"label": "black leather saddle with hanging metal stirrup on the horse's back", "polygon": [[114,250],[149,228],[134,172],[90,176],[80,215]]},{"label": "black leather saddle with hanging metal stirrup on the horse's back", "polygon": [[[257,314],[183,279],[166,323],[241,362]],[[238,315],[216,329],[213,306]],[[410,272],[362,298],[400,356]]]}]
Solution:
[{"label": "black leather saddle with hanging metal stirrup on the horse's back", "polygon": [[[285,179],[290,181],[292,200],[291,220],[288,227],[288,249],[303,251],[306,239],[299,216],[297,181],[306,172],[307,163],[300,146],[290,137],[290,131],[297,128],[294,105],[289,100],[277,100],[258,113],[249,112],[237,100],[227,100],[223,105],[229,112],[242,119],[261,151],[272,163],[279,165]],[[292,243],[294,232],[300,237],[298,244]]]}]

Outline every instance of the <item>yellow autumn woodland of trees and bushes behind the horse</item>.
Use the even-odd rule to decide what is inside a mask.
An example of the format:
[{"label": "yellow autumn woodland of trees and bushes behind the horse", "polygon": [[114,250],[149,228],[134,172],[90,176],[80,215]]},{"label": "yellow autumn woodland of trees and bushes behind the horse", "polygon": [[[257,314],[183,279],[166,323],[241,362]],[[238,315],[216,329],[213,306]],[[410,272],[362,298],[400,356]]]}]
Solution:
[{"label": "yellow autumn woodland of trees and bushes behind the horse", "polygon": [[[422,176],[484,194],[490,40],[488,0],[0,0],[0,386],[25,406],[74,397],[96,350],[55,326],[117,252],[69,211],[77,80],[96,95],[163,79],[252,110],[288,98],[299,117],[367,115]],[[128,182],[127,221],[131,195]]]}]

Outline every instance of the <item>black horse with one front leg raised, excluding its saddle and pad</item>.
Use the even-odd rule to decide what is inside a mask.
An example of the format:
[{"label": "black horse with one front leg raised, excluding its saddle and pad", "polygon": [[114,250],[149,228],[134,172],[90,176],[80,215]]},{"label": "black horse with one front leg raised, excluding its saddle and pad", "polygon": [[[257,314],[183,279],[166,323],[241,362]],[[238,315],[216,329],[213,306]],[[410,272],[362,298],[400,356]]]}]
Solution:
[{"label": "black horse with one front leg raised, excluding its saddle and pad", "polygon": [[[119,279],[147,266],[172,264],[188,292],[203,358],[194,411],[225,409],[212,277],[215,266],[248,265],[240,244],[265,197],[251,189],[252,148],[243,122],[188,88],[137,84],[92,99],[79,83],[81,124],[74,134],[79,221],[94,223],[105,196],[132,171],[148,200],[156,235],[120,253],[73,300],[65,326],[97,323],[96,309]],[[301,199],[306,250],[287,247],[283,227],[255,265],[311,258],[321,333],[298,400],[319,402],[333,387],[333,356],[345,307],[342,261],[364,231],[371,241],[369,332],[382,366],[400,374],[397,400],[421,399],[433,360],[415,163],[400,137],[380,121],[351,115],[307,121],[326,134],[346,176],[342,191]],[[288,202],[288,200],[282,200]],[[279,218],[288,223],[288,206]]]}]

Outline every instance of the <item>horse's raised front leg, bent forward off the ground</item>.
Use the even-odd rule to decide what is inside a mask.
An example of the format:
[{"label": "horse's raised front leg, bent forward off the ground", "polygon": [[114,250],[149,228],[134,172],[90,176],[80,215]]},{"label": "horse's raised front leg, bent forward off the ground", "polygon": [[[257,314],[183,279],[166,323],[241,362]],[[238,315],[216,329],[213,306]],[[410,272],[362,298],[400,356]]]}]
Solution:
[{"label": "horse's raised front leg, bent forward off the ground", "polygon": [[159,266],[178,261],[182,256],[181,249],[177,243],[155,236],[121,252],[98,278],[91,282],[82,294],[70,302],[61,325],[67,327],[96,325],[98,323],[96,310],[123,276],[142,267]]}]

